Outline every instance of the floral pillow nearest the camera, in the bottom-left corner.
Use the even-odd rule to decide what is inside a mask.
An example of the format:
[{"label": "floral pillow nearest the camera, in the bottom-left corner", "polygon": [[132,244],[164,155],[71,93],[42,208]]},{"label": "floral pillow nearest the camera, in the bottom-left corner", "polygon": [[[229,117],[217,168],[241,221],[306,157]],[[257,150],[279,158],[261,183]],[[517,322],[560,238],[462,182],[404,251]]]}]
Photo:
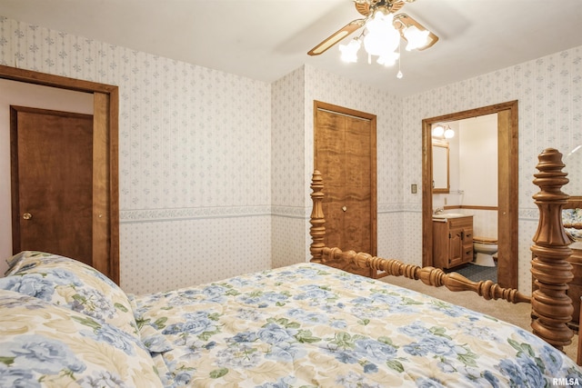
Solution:
[{"label": "floral pillow nearest the camera, in the bottom-left corner", "polygon": [[135,336],[83,313],[0,290],[0,385],[162,387]]}]

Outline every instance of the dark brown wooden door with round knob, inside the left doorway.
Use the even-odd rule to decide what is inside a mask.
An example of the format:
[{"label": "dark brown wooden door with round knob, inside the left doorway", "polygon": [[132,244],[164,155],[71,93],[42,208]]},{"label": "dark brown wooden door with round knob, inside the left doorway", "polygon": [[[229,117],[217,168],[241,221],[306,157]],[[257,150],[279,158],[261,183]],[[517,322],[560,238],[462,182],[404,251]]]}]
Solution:
[{"label": "dark brown wooden door with round knob, inside the left doorway", "polygon": [[93,264],[93,116],[11,106],[13,251]]}]

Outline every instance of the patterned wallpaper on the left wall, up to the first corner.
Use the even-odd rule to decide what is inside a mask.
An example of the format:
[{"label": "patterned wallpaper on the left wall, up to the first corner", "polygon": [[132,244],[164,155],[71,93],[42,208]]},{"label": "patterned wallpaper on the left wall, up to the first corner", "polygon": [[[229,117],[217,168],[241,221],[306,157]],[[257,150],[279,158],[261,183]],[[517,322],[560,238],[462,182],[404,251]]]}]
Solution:
[{"label": "patterned wallpaper on the left wall, up to the first corner", "polygon": [[126,291],[271,266],[270,85],[1,16],[0,55],[2,65],[119,86]]}]

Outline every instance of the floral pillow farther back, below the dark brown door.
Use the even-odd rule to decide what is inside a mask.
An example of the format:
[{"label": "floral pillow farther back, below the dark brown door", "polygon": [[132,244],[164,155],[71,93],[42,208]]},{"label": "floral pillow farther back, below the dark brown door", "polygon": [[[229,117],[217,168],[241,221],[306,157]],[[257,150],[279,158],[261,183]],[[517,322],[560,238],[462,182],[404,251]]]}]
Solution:
[{"label": "floral pillow farther back, below the dark brown door", "polygon": [[0,289],[85,313],[139,337],[127,295],[95,268],[58,254],[26,251],[15,257],[10,275],[0,279]]}]

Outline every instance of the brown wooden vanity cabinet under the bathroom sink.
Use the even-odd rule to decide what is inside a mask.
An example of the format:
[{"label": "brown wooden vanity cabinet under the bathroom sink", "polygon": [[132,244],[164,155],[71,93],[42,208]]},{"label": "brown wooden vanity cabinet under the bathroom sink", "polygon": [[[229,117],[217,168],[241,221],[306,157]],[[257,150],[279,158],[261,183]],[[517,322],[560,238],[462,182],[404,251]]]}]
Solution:
[{"label": "brown wooden vanity cabinet under the bathroom sink", "polygon": [[433,218],[433,265],[453,268],[473,261],[473,216]]}]

